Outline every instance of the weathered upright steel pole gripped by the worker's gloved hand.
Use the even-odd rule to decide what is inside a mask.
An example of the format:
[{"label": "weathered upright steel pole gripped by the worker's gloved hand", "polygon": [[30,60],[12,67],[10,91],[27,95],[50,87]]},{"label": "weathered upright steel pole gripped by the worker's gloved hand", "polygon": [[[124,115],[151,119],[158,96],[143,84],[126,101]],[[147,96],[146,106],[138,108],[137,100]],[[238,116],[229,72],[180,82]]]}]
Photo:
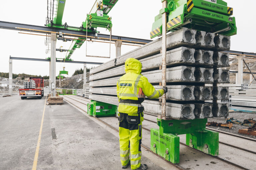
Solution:
[{"label": "weathered upright steel pole gripped by the worker's gloved hand", "polygon": [[[166,0],[162,0],[163,10],[167,8]],[[162,14],[162,86],[166,86],[166,12]],[[162,96],[161,119],[166,120],[166,94]]]}]

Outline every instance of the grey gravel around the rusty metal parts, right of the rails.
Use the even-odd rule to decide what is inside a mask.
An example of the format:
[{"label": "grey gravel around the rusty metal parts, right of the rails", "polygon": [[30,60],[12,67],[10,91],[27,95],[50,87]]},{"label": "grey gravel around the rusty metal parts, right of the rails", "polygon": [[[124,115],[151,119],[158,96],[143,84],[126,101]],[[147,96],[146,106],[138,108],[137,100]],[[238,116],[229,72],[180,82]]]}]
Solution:
[{"label": "grey gravel around the rusty metal parts, right of the rails", "polygon": [[[229,113],[228,118],[234,118],[234,119],[237,119],[238,121],[243,122],[245,119],[250,119],[250,118],[253,118],[253,120],[256,120],[256,114],[244,113],[244,112],[232,112],[232,113]],[[226,119],[225,118],[208,118],[208,122],[226,123]],[[247,129],[249,128],[248,126],[241,126],[235,123],[232,123],[232,124],[233,124],[233,127],[231,129],[224,128],[224,127],[214,127],[214,126],[208,126],[208,127],[256,139],[256,136],[238,133],[239,129]]]}]

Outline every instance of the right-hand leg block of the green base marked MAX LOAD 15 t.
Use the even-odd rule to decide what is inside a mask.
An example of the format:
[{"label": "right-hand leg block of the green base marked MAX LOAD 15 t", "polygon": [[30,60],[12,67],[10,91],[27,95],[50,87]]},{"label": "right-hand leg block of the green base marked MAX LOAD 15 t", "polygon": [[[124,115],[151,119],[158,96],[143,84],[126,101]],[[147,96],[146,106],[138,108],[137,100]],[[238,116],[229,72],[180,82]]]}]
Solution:
[{"label": "right-hand leg block of the green base marked MAX LOAD 15 t", "polygon": [[186,134],[186,144],[209,155],[219,155],[218,132],[203,129]]}]

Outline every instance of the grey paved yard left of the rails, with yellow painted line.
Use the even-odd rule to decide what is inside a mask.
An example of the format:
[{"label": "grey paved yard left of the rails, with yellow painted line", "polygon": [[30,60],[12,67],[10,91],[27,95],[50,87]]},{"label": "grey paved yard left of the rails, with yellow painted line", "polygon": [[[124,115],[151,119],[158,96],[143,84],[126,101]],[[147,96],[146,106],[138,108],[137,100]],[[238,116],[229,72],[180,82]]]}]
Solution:
[{"label": "grey paved yard left of the rails, with yellow painted line", "polygon": [[[45,99],[0,97],[0,169],[26,170],[33,164],[38,170],[121,169],[117,135],[68,103],[46,106]],[[148,157],[142,162],[163,169]]]}]

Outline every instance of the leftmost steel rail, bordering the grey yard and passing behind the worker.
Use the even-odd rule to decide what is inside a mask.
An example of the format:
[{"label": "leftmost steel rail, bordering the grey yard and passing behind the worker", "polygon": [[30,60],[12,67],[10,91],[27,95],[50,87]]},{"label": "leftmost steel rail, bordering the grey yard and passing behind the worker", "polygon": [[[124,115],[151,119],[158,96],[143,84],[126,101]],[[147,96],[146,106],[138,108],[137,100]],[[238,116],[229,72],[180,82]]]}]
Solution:
[{"label": "leftmost steel rail, bordering the grey yard and passing behind the worker", "polygon": [[[67,96],[65,96],[65,97],[67,97]],[[69,97],[67,97],[67,98],[69,98]],[[72,98],[69,98],[69,99],[72,99]],[[74,100],[74,99],[72,99],[72,100]],[[67,100],[66,100],[66,101],[67,101]],[[75,100],[75,101],[77,101],[77,100]],[[84,111],[85,113],[87,113],[87,111],[85,111],[84,109],[82,109],[82,108],[76,106],[75,104],[73,104],[73,103],[71,103],[71,102],[69,102],[69,101],[67,101],[67,102],[70,103],[70,104],[72,104],[73,106],[77,107],[78,109]],[[77,101],[77,102],[79,102],[79,101]],[[80,103],[81,103],[81,102],[80,102]],[[114,128],[113,126],[107,124],[106,122],[102,121],[101,119],[99,119],[99,118],[97,118],[97,117],[93,117],[93,118],[97,119],[98,121],[102,122],[103,124],[107,125],[108,127],[110,127],[110,128],[112,128],[112,129],[114,129],[115,131],[119,132],[118,129],[116,129],[116,128]],[[118,118],[118,117],[116,117],[116,118]],[[169,164],[175,166],[176,168],[178,168],[178,169],[180,169],[180,170],[186,170],[186,169],[183,168],[182,166],[177,165],[177,164],[174,164],[174,163],[172,163],[172,162],[166,160],[166,159],[163,158],[162,156],[160,156],[160,155],[154,153],[154,152],[153,152],[149,147],[147,147],[146,145],[141,144],[141,146],[142,146],[143,148],[145,148],[146,150],[150,151],[151,153],[155,154],[156,156],[160,157],[161,159],[165,160],[165,161],[168,162]]]}]

